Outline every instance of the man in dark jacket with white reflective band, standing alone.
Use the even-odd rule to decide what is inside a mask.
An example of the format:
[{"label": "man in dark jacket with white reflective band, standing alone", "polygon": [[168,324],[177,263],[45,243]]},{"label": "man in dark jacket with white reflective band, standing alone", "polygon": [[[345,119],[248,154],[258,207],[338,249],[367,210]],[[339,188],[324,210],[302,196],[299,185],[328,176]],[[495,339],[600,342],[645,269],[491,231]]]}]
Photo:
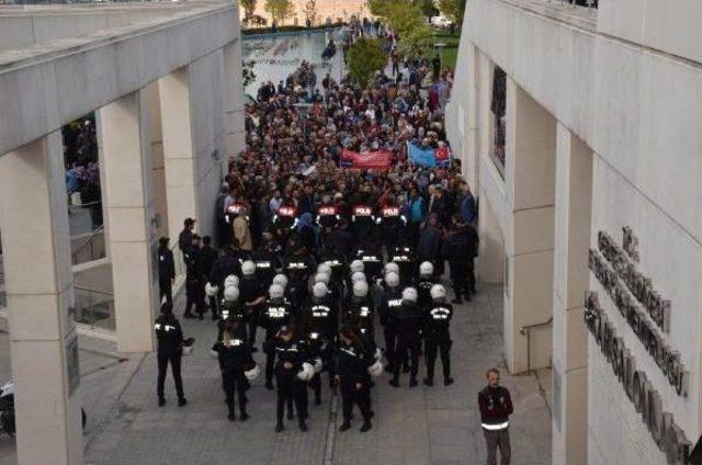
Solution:
[{"label": "man in dark jacket with white reflective band, standing alone", "polygon": [[500,449],[500,464],[509,465],[509,416],[512,415],[512,398],[506,387],[500,386],[500,372],[487,371],[487,386],[478,393],[480,426],[487,445],[487,465],[497,465],[497,449]]}]

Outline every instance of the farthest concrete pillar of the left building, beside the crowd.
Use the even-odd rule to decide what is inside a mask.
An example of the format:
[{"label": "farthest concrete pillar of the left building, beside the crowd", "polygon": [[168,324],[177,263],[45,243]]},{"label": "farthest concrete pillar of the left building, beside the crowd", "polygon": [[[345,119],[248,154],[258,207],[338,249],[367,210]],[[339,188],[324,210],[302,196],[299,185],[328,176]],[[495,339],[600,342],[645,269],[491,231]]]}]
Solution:
[{"label": "farthest concrete pillar of the left building, beside the crowd", "polygon": [[225,155],[239,155],[246,149],[240,39],[224,47],[224,76],[222,83],[224,87]]}]

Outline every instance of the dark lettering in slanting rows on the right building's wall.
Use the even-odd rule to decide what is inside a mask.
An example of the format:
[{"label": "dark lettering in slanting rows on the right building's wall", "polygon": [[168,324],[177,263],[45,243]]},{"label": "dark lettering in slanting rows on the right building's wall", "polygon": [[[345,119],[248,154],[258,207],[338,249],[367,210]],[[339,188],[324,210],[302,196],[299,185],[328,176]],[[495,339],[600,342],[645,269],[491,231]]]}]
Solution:
[{"label": "dark lettering in slanting rows on the right building's wall", "polygon": [[[670,331],[670,300],[653,287],[650,277],[637,270],[638,239],[630,227],[623,228],[622,246],[607,232],[598,234],[598,250],[590,249],[588,265],[616,306],[627,326],[656,362],[679,396],[688,395],[689,373],[680,354],[659,333]],[[672,413],[664,411],[661,396],[643,370],[637,370],[624,340],[600,305],[597,292],[585,296],[585,321],[595,341],[612,365],[636,412],[642,416],[654,442],[673,465],[689,464],[691,444]],[[646,316],[647,315],[647,316]]]}]

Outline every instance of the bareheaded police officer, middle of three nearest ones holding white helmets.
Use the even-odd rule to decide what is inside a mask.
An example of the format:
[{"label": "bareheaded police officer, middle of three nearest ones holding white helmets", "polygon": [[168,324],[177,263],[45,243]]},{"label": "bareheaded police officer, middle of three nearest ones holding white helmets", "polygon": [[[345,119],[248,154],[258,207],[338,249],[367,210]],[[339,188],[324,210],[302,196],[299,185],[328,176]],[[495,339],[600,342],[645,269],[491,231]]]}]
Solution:
[{"label": "bareheaded police officer, middle of three nearest ones holding white helmets", "polygon": [[[307,431],[305,396],[307,386],[298,376],[303,364],[309,365],[307,348],[301,347],[293,327],[283,326],[273,339],[275,359],[275,384],[278,385],[278,410],[275,432],[283,431],[283,413],[285,405],[292,400],[297,411],[299,430]],[[312,368],[312,366],[309,367]],[[314,368],[312,368],[314,370]]]}]

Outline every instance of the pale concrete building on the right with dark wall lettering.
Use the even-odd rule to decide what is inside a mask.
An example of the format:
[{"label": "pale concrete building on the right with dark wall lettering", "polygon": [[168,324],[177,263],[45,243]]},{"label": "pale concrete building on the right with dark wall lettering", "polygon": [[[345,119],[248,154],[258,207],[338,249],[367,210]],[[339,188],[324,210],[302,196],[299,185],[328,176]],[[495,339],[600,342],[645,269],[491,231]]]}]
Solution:
[{"label": "pale concrete building on the right with dark wall lettering", "polygon": [[479,195],[480,279],[505,283],[509,370],[553,365],[553,464],[687,463],[702,431],[702,4],[466,11],[450,139]]}]

